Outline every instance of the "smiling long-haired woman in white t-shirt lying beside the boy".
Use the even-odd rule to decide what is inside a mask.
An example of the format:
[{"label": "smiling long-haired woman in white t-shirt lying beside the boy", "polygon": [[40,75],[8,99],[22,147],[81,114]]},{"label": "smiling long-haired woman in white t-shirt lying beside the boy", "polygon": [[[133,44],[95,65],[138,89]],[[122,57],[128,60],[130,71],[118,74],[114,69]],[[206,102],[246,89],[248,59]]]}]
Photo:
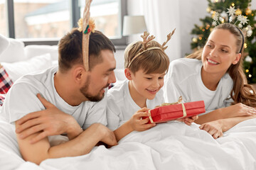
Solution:
[{"label": "smiling long-haired woman in white t-shirt lying beside the boy", "polygon": [[[165,84],[165,99],[178,96],[183,102],[201,101],[206,113],[195,122],[216,139],[234,125],[256,118],[255,89],[242,71],[242,31],[222,23],[210,33],[203,51],[171,62]],[[195,60],[198,59],[198,60]]]}]

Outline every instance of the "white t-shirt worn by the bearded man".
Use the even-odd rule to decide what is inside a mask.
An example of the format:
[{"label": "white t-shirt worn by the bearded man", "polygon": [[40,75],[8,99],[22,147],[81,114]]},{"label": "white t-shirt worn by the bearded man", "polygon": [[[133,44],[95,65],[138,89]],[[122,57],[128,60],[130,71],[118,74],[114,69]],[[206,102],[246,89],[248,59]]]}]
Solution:
[{"label": "white t-shirt worn by the bearded man", "polygon": [[107,98],[99,102],[84,101],[79,106],[70,106],[55,90],[53,78],[57,70],[58,67],[53,67],[18,79],[6,95],[1,115],[9,123],[14,123],[28,113],[44,110],[43,104],[36,97],[39,93],[60,111],[72,115],[84,130],[92,123],[107,125],[105,112]]}]

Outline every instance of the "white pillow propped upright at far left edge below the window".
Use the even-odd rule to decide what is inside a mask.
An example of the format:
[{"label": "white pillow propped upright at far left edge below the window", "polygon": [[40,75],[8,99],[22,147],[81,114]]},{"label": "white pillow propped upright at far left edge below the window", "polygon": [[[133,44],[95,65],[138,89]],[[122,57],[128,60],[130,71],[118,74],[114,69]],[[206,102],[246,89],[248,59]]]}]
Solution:
[{"label": "white pillow propped upright at far left edge below the window", "polygon": [[24,42],[7,38],[9,46],[0,55],[0,62],[20,62],[27,59],[25,56]]}]

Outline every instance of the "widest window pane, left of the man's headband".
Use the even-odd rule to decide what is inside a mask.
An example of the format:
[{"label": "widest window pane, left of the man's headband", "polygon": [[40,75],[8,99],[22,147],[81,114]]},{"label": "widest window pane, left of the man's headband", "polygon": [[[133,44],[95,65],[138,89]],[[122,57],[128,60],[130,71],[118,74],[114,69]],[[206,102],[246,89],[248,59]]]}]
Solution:
[{"label": "widest window pane, left of the man's headband", "polygon": [[61,38],[70,30],[68,0],[14,0],[16,38]]}]

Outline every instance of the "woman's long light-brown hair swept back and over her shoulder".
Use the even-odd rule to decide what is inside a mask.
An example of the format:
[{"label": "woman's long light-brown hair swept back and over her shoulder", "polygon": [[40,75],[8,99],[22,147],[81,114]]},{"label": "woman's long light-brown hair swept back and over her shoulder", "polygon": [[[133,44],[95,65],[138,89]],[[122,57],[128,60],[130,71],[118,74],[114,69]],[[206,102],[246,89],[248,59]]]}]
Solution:
[{"label": "woman's long light-brown hair swept back and over her shoulder", "polygon": [[[216,26],[213,30],[216,29],[223,29],[223,30],[229,30],[230,33],[235,35],[236,38],[236,45],[237,45],[237,52],[239,53],[240,48],[242,47],[242,32],[238,30],[235,25],[231,23],[222,23],[218,26]],[[252,85],[247,84],[247,79],[245,76],[245,73],[243,72],[243,55],[242,55],[243,49],[241,51],[241,58],[237,64],[231,64],[228,68],[228,74],[230,74],[231,79],[233,79],[233,89],[230,91],[230,96],[233,99],[232,104],[236,103],[243,103],[247,106],[256,106],[256,94],[255,89]],[[194,52],[191,55],[188,55],[186,58],[194,58],[201,60],[201,56],[203,53],[203,49],[198,50]]]}]

